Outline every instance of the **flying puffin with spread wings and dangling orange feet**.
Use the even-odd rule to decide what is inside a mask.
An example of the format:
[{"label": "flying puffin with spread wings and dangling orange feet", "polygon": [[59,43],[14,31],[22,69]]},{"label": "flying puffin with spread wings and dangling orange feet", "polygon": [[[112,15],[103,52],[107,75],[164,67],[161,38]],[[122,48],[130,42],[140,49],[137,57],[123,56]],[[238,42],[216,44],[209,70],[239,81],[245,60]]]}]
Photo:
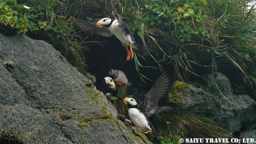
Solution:
[{"label": "flying puffin with spread wings and dangling orange feet", "polygon": [[[134,57],[132,48],[137,49],[134,36],[132,35],[132,31],[129,29],[128,24],[124,21],[124,18],[117,13],[113,0],[109,0],[109,6],[115,19],[105,17],[100,19],[98,22],[79,20],[73,17],[72,19],[84,32],[91,34],[97,33],[106,37],[111,37],[114,34],[117,39],[121,41],[122,45],[126,47],[126,60],[128,61],[130,58],[133,59]],[[128,46],[130,46],[130,50],[128,49]]]}]

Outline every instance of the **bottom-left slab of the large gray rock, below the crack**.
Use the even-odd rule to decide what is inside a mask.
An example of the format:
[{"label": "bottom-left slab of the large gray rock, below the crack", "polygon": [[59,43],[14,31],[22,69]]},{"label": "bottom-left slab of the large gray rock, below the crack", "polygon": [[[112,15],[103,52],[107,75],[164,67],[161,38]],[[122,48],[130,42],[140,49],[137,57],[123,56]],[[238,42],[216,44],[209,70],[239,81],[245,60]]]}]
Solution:
[{"label": "bottom-left slab of the large gray rock, below the crack", "polygon": [[64,136],[52,115],[24,104],[0,105],[0,128],[20,137],[24,143],[72,144]]}]

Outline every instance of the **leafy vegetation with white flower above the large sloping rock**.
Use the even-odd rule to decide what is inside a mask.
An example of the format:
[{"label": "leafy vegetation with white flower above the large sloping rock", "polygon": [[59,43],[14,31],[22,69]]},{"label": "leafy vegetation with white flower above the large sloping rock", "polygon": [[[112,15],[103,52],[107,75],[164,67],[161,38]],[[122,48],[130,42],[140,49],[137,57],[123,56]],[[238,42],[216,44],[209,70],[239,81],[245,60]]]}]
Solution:
[{"label": "leafy vegetation with white flower above the large sloping rock", "polygon": [[66,19],[70,8],[59,0],[1,0],[0,28],[9,26],[17,33],[32,37],[39,35],[39,39],[50,42],[61,54],[69,57],[67,59],[72,65],[85,73],[82,55],[85,41],[76,34],[70,19]]}]

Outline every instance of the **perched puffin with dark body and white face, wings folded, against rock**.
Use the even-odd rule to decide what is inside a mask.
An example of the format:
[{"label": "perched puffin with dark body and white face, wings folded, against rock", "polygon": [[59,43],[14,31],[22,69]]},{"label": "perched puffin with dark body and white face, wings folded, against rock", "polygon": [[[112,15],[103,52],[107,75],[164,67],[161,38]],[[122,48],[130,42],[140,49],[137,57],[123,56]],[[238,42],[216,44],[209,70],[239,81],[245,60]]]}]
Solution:
[{"label": "perched puffin with dark body and white face, wings folded, against rock", "polygon": [[102,92],[104,96],[108,98],[110,102],[115,105],[115,100],[122,100],[117,96],[118,90],[115,89],[115,83],[112,78],[105,77],[101,80],[101,83],[94,87],[98,92]]}]

